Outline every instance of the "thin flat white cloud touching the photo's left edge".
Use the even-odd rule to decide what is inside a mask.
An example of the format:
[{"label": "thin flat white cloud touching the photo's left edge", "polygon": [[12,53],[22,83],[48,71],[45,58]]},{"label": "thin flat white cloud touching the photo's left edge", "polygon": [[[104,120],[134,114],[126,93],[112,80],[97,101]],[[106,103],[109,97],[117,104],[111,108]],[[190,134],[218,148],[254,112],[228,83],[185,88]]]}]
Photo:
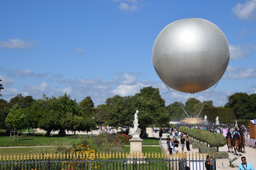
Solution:
[{"label": "thin flat white cloud touching the photo's left edge", "polygon": [[31,42],[24,42],[23,40],[19,38],[15,39],[8,39],[8,42],[2,42],[0,41],[0,48],[17,48],[17,49],[23,49],[23,48],[29,48],[33,45],[36,45],[36,42],[33,40]]}]

